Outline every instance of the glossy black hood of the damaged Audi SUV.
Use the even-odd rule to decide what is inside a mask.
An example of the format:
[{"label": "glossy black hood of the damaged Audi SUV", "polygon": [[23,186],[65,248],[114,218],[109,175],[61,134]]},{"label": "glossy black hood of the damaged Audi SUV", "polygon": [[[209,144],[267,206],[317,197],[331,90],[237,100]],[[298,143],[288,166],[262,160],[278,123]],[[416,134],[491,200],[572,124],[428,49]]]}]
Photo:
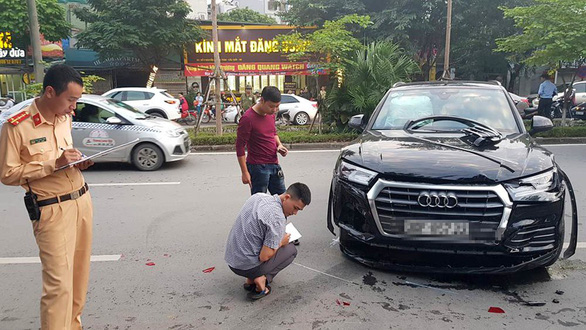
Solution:
[{"label": "glossy black hood of the damaged Audi SUV", "polygon": [[483,150],[460,136],[372,131],[344,148],[341,158],[388,179],[436,183],[494,184],[554,166],[553,154],[529,134],[505,138]]}]

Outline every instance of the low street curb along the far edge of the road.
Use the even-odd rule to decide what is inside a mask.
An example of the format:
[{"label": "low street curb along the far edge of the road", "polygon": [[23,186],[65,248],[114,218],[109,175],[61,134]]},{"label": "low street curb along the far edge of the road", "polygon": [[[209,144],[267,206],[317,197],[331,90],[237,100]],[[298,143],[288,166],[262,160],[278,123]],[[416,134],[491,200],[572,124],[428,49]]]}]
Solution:
[{"label": "low street curb along the far edge of the road", "polygon": [[[586,144],[586,137],[565,137],[565,138],[535,138],[535,141],[543,145],[552,144]],[[348,142],[320,142],[320,143],[285,143],[289,150],[339,150],[349,144]],[[192,152],[202,151],[236,151],[233,144],[226,145],[192,145]]]}]

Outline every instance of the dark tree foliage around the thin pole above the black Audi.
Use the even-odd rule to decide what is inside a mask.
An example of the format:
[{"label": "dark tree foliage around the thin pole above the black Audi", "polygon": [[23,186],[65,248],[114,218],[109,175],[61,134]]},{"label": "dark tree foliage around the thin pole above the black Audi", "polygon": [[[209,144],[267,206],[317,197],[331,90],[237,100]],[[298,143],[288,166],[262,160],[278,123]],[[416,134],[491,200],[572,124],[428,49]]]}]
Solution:
[{"label": "dark tree foliage around the thin pole above the black Audi", "polygon": [[[506,55],[494,51],[495,39],[515,31],[499,5],[512,6],[533,0],[454,0],[452,18],[452,67],[456,75],[493,79],[506,75]],[[318,25],[344,15],[370,16],[373,24],[361,35],[364,42],[391,40],[399,43],[419,63],[422,79],[441,60],[445,45],[445,0],[289,0],[291,10],[282,15],[293,25]],[[521,68],[516,66],[514,70]]]}]

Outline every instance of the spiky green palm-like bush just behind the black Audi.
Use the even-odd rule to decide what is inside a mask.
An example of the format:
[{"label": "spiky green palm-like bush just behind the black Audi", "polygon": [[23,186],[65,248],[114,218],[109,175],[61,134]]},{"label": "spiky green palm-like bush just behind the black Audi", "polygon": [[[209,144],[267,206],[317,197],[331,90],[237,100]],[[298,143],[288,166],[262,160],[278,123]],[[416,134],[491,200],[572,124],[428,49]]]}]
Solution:
[{"label": "spiky green palm-like bush just behind the black Audi", "polygon": [[356,114],[370,116],[385,93],[399,81],[411,81],[417,63],[398,44],[380,41],[345,61],[344,78],[326,97],[326,122],[344,127]]}]

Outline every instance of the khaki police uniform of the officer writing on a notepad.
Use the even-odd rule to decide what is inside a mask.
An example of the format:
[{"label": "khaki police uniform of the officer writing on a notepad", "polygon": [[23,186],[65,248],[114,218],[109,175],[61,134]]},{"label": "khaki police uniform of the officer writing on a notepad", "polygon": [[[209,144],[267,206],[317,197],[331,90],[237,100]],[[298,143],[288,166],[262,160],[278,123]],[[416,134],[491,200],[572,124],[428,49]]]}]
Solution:
[{"label": "khaki police uniform of the officer writing on a notepad", "polygon": [[73,148],[71,116],[47,122],[36,101],[2,126],[0,180],[25,190],[30,185],[39,205],[49,204],[32,222],[43,266],[43,330],[81,329],[90,268],[91,197],[78,168],[55,171],[60,148]]}]

